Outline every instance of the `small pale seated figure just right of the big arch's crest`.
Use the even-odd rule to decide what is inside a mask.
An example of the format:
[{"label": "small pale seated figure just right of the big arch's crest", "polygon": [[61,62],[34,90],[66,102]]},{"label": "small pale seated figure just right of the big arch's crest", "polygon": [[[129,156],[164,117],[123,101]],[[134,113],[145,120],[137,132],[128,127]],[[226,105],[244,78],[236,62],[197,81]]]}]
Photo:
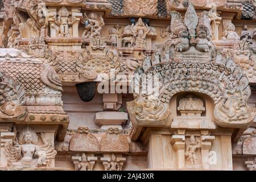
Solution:
[{"label": "small pale seated figure just right of the big arch's crest", "polygon": [[240,40],[240,36],[237,35],[233,23],[225,23],[221,40]]}]

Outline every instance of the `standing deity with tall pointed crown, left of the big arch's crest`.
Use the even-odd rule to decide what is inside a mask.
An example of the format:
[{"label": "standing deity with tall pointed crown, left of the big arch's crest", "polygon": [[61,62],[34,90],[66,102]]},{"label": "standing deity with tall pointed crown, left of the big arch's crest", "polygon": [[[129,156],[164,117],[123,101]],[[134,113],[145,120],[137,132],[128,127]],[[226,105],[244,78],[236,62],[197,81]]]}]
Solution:
[{"label": "standing deity with tall pointed crown, left of the big arch's crest", "polygon": [[134,48],[146,48],[146,35],[150,32],[150,28],[144,24],[142,18],[139,18],[132,27],[132,32],[135,39]]}]

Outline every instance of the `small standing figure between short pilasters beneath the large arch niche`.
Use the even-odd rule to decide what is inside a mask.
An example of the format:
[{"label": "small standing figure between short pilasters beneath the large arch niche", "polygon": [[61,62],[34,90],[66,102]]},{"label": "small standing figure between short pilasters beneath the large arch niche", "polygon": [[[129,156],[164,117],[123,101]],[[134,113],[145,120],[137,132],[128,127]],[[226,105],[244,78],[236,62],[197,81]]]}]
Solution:
[{"label": "small standing figure between short pilasters beneath the large arch niche", "polygon": [[191,135],[187,145],[187,152],[185,157],[191,164],[197,164],[196,150],[200,148],[200,144],[196,141],[195,136]]}]

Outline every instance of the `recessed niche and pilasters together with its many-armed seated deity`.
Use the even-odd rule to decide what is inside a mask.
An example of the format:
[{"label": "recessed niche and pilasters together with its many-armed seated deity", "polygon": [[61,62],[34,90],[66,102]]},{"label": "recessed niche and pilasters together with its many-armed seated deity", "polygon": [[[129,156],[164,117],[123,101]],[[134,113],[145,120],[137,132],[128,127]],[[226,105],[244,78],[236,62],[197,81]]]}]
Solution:
[{"label": "recessed niche and pilasters together with its many-armed seated deity", "polygon": [[13,170],[54,168],[54,135],[55,127],[16,125],[13,137],[3,140],[1,166]]}]

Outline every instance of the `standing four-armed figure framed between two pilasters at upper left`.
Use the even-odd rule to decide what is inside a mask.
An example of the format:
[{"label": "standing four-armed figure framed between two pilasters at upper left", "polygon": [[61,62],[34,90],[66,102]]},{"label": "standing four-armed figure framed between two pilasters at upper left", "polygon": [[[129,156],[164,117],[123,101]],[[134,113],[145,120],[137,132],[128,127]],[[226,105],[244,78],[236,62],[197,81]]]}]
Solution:
[{"label": "standing four-armed figure framed between two pilasters at upper left", "polygon": [[72,24],[74,23],[74,19],[76,18],[73,16],[72,20],[68,18],[69,13],[66,7],[61,7],[58,13],[58,17],[55,16],[55,24],[53,24],[53,28],[56,29],[56,36],[60,37],[68,37],[72,36]]}]

